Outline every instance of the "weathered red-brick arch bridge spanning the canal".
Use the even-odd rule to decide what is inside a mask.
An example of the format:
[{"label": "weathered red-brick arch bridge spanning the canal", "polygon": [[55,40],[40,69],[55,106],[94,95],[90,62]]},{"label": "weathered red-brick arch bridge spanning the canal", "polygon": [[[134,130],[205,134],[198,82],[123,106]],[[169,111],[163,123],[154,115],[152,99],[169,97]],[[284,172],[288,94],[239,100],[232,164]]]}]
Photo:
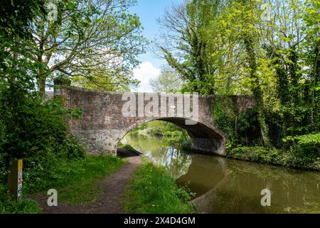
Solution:
[{"label": "weathered red-brick arch bridge spanning the canal", "polygon": [[[65,108],[81,108],[82,117],[77,120],[68,120],[68,130],[80,139],[88,153],[117,154],[119,140],[124,138],[130,130],[137,128],[151,120],[164,120],[186,129],[191,136],[191,148],[202,152],[213,152],[223,155],[225,152],[225,135],[213,123],[211,110],[215,96],[191,95],[191,109],[186,112],[177,111],[179,105],[186,106],[186,98],[176,95],[162,95],[156,93],[127,93],[87,90],[71,86],[57,86],[54,95],[61,96]],[[161,98],[165,97],[165,98]],[[134,108],[125,108],[130,100],[137,101]],[[151,98],[150,98],[151,97]],[[144,100],[142,108],[139,99]],[[146,99],[147,98],[147,99]],[[198,100],[195,105],[193,100]],[[149,100],[148,100],[149,99]],[[151,101],[159,100],[159,115],[146,115],[144,110]],[[132,101],[131,100],[131,101]],[[233,96],[233,103],[238,110],[245,110],[253,105],[248,96]],[[180,102],[180,103],[179,103]],[[155,103],[154,103],[155,104]],[[165,106],[165,107],[164,107]],[[132,110],[133,107],[133,110]],[[164,109],[165,108],[165,109]],[[156,105],[150,110],[157,109]],[[191,115],[198,110],[198,116]],[[132,113],[124,115],[124,110]],[[129,115],[129,116],[128,116]],[[196,117],[195,117],[196,116]],[[190,121],[193,120],[193,121]]]}]

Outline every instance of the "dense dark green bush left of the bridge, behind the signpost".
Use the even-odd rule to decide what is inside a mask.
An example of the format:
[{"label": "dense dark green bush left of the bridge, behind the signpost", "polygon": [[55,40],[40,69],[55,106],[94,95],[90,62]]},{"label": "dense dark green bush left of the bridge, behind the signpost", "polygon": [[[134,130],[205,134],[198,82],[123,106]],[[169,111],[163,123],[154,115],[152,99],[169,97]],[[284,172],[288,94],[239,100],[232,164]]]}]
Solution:
[{"label": "dense dark green bush left of the bridge, behind the signpost", "polygon": [[[58,157],[84,157],[85,150],[78,140],[67,133],[63,120],[69,113],[60,98],[43,102],[41,96],[34,94],[7,100],[9,95],[4,92],[0,96],[0,157],[4,170],[16,158],[25,159],[25,168],[29,169],[33,164],[50,164],[49,160]],[[14,107],[9,102],[14,102]],[[5,179],[3,171],[1,180]]]}]

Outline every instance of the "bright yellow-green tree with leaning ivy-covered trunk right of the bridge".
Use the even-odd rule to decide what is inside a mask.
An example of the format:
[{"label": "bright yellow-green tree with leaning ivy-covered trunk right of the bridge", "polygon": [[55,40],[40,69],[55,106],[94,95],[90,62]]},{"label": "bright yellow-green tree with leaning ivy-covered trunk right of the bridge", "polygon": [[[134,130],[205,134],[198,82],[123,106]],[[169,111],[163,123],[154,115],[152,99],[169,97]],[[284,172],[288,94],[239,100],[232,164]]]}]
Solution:
[{"label": "bright yellow-green tree with leaning ivy-covered trunk right of the bridge", "polygon": [[256,1],[235,1],[210,22],[206,33],[215,73],[224,84],[219,91],[227,90],[226,94],[229,92],[230,95],[229,88],[245,86],[251,92],[255,98],[257,127],[260,128],[262,145],[265,145],[268,143],[267,125],[258,64],[261,54],[257,27],[259,13]]}]

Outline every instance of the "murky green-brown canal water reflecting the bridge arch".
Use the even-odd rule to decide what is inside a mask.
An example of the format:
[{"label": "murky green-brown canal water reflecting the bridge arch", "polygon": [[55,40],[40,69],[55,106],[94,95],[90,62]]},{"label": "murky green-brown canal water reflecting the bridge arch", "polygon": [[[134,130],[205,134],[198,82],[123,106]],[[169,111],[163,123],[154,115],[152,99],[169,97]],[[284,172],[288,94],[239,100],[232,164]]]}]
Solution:
[{"label": "murky green-brown canal water reflecting the bridge arch", "polygon": [[[199,212],[320,213],[320,172],[199,155],[156,137],[128,134],[122,142],[164,165],[178,185],[188,185]],[[261,204],[265,189],[270,207]]]}]

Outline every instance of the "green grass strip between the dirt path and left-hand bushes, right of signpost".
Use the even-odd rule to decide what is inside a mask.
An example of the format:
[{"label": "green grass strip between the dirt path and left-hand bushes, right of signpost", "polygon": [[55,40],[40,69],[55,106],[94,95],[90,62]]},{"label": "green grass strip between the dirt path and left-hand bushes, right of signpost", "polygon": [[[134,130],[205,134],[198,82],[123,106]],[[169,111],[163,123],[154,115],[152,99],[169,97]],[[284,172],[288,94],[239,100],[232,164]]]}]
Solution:
[{"label": "green grass strip between the dirt path and left-hand bushes, right of signpost", "polygon": [[26,192],[55,189],[59,202],[82,204],[91,202],[101,191],[97,180],[110,175],[124,163],[110,155],[87,156],[78,160],[61,160],[46,178],[26,180]]}]

